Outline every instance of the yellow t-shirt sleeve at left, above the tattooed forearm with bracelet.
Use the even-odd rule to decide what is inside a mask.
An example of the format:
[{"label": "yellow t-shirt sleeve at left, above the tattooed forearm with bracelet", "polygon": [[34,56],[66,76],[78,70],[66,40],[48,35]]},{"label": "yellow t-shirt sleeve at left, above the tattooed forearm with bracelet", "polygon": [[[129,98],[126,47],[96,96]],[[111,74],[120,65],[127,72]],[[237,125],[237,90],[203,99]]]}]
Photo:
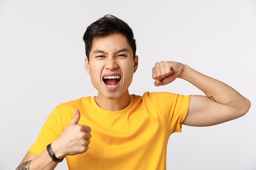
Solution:
[{"label": "yellow t-shirt sleeve at left, above the tattooed forearm with bracelet", "polygon": [[37,156],[40,155],[48,144],[51,144],[61,136],[62,131],[61,114],[58,106],[56,106],[45,121],[37,140],[27,151]]}]

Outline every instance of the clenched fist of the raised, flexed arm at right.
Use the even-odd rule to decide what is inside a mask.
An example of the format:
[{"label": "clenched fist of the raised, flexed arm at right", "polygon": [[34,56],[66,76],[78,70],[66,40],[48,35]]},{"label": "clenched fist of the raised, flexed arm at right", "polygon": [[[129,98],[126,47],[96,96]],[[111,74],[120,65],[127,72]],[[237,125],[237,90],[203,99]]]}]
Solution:
[{"label": "clenched fist of the raised, flexed arm at right", "polygon": [[157,62],[152,68],[152,78],[155,86],[163,86],[180,77],[184,64],[179,62]]}]

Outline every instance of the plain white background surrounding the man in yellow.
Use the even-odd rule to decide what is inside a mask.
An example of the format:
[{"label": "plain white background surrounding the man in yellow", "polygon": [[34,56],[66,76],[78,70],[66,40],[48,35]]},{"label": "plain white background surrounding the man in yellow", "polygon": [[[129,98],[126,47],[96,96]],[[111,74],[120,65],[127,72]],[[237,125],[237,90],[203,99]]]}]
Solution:
[{"label": "plain white background surrounding the man in yellow", "polygon": [[56,105],[97,95],[84,69],[82,38],[106,14],[127,22],[137,40],[130,94],[203,95],[182,79],[153,85],[155,62],[170,60],[229,84],[252,103],[239,119],[183,126],[171,135],[167,169],[255,170],[255,0],[0,0],[0,169],[18,166]]}]

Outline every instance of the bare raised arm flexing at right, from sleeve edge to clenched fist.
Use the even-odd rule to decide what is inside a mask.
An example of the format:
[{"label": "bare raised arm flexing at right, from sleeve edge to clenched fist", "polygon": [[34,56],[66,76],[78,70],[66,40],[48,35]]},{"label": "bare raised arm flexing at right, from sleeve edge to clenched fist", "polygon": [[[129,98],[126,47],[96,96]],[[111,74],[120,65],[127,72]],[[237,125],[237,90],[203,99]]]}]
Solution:
[{"label": "bare raised arm flexing at right, from sleeve edge to clenched fist", "polygon": [[206,96],[191,95],[189,110],[182,124],[212,126],[245,115],[250,101],[227,84],[203,75],[178,62],[158,62],[153,68],[155,86],[172,82],[177,77],[190,82]]}]

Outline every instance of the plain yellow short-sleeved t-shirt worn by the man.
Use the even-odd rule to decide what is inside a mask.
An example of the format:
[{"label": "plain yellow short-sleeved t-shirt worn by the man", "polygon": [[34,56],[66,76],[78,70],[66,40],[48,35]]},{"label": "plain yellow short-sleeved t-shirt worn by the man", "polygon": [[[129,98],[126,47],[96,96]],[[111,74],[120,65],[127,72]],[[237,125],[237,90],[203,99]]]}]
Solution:
[{"label": "plain yellow short-sleeved t-shirt worn by the man", "polygon": [[28,152],[40,155],[60,137],[78,108],[79,124],[90,126],[92,138],[87,152],[66,156],[69,170],[166,170],[168,139],[181,132],[190,95],[146,92],[130,97],[130,104],[119,111],[103,110],[94,97],[56,106]]}]

